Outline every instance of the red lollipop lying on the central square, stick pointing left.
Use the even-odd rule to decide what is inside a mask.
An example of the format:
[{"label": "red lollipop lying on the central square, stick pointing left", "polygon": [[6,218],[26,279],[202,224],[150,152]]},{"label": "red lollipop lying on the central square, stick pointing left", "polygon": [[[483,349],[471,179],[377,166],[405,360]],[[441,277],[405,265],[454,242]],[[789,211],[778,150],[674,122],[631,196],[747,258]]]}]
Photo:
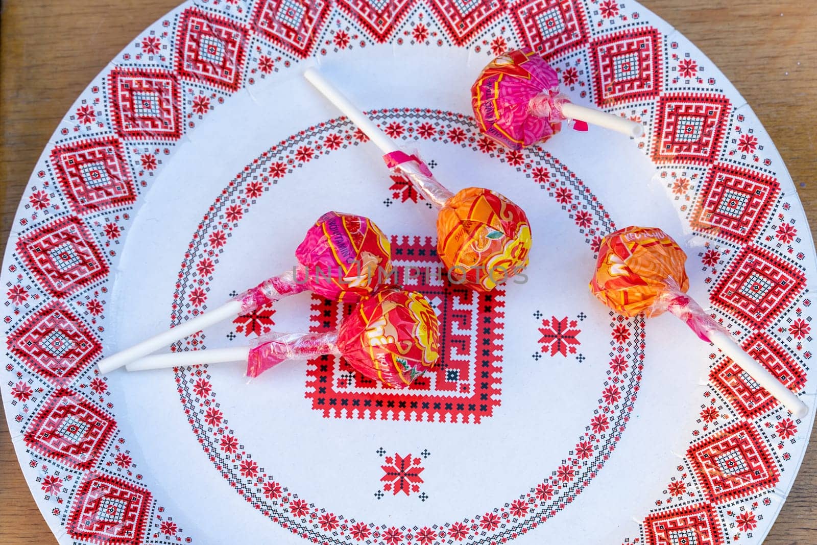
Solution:
[{"label": "red lollipop lying on the central square, stick pointing left", "polygon": [[253,346],[150,355],[128,371],[180,365],[247,361],[247,376],[257,377],[286,360],[340,355],[364,377],[404,388],[440,357],[440,323],[421,293],[382,288],[343,319],[337,333],[270,333]]}]

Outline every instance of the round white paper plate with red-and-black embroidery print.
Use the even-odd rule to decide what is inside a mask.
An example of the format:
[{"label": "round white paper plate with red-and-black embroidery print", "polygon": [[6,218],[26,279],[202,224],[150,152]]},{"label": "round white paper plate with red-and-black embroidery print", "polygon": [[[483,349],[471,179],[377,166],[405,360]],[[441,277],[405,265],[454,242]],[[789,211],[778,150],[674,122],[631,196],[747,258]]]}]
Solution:
[{"label": "round white paper plate with red-and-black embroidery print", "polygon": [[[532,47],[571,100],[646,136],[565,128],[498,149],[469,88]],[[438,279],[435,211],[302,78],[499,190],[534,237],[524,282]],[[328,210],[391,236],[443,324],[439,369],[386,391],[331,357],[99,376],[102,355],[288,270]],[[660,226],[694,295],[790,388],[793,418],[678,320],[587,289],[600,237]],[[188,2],[87,87],[34,168],[2,268],[2,397],[60,543],[760,543],[815,412],[815,252],[792,181],[717,67],[636,2]],[[331,331],[301,293],[176,343]]]}]

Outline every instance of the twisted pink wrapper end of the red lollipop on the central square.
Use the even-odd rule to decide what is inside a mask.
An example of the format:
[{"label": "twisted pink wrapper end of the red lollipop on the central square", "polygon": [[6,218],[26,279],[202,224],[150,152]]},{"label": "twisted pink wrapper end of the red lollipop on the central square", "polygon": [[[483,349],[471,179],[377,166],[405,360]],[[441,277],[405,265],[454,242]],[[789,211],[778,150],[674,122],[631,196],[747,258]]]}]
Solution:
[{"label": "twisted pink wrapper end of the red lollipop on the central square", "polygon": [[255,378],[287,360],[309,360],[319,355],[341,355],[337,333],[270,333],[258,337],[247,357],[247,376]]}]

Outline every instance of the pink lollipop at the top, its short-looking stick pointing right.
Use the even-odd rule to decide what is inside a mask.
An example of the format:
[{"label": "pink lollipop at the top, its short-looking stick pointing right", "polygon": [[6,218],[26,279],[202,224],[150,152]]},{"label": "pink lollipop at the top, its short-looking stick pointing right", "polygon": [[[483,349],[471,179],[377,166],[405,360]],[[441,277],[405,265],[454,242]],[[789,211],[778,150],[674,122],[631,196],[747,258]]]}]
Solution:
[{"label": "pink lollipop at the top, its short-looking stick pointing right", "polygon": [[480,131],[511,150],[547,141],[569,118],[581,120],[577,130],[592,123],[628,136],[644,134],[641,123],[572,104],[559,92],[556,70],[530,49],[492,60],[471,86],[471,105]]}]

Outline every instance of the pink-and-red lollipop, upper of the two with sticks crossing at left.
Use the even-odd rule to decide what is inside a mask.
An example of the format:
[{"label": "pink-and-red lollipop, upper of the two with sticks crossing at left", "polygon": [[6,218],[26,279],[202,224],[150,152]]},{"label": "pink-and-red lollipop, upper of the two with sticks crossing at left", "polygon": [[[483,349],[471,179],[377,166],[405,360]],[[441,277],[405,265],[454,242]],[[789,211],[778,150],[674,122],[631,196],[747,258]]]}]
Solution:
[{"label": "pink-and-red lollipop, upper of the two with sticks crossing at left", "polygon": [[100,361],[100,373],[295,293],[310,290],[329,299],[357,302],[371,294],[391,271],[391,245],[386,235],[368,218],[341,212],[319,217],[296,248],[295,257],[298,264],[292,270],[264,280],[215,310],[109,355]]}]

